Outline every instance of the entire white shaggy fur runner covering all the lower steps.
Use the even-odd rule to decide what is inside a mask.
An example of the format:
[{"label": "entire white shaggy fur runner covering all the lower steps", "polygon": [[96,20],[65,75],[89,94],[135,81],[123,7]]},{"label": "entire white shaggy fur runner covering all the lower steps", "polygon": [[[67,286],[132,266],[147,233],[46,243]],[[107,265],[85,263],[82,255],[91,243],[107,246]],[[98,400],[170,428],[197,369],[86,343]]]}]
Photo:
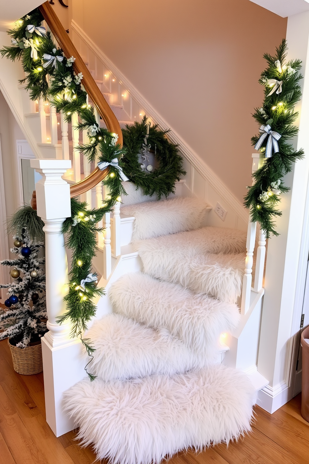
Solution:
[{"label": "entire white shaggy fur runner covering all the lower steps", "polygon": [[136,218],[135,247],[145,273],[125,275],[109,290],[114,314],[88,331],[98,378],[82,380],[64,398],[79,438],[93,444],[99,459],[159,463],[250,430],[251,382],[214,364],[221,332],[240,317],[233,303],[246,237],[214,227],[193,230],[206,207],[176,198],[122,208]]}]

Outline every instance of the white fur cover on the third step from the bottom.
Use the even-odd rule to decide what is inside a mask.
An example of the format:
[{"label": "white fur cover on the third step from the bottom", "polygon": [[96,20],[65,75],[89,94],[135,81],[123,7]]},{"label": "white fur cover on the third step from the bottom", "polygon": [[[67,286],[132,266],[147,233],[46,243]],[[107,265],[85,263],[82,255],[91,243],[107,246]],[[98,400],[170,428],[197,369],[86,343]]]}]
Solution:
[{"label": "white fur cover on the third step from the bottom", "polygon": [[235,304],[195,294],[141,272],[120,277],[108,296],[116,313],[148,327],[165,327],[209,362],[218,356],[221,333],[231,332],[240,319]]}]

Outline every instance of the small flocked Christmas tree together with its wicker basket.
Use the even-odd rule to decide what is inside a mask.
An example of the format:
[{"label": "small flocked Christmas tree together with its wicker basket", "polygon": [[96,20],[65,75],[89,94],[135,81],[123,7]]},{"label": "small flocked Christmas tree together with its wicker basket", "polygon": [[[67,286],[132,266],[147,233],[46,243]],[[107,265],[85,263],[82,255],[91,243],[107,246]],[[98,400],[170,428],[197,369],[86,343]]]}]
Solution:
[{"label": "small flocked Christmas tree together with its wicker basket", "polygon": [[11,321],[0,332],[0,340],[8,338],[13,357],[13,367],[19,374],[42,372],[41,337],[46,332],[45,276],[42,266],[45,258],[38,253],[44,245],[31,240],[26,228],[15,235],[11,252],[16,259],[5,259],[0,264],[11,266],[13,282],[0,284],[7,288],[6,311],[0,314],[0,322]]}]

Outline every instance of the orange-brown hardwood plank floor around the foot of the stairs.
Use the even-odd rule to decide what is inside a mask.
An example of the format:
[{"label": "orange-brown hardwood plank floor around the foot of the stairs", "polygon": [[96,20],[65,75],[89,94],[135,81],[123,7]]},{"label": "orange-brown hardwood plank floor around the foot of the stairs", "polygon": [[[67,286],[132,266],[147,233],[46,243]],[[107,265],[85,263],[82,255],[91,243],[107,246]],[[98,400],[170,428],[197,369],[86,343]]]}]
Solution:
[{"label": "orange-brown hardwood plank floor around the foot of the stairs", "polygon": [[[309,464],[309,423],[298,395],[274,414],[258,406],[252,433],[238,443],[202,453],[178,453],[169,464]],[[7,341],[0,342],[0,464],[91,464],[75,432],[56,438],[44,419],[43,374],[13,370]]]}]

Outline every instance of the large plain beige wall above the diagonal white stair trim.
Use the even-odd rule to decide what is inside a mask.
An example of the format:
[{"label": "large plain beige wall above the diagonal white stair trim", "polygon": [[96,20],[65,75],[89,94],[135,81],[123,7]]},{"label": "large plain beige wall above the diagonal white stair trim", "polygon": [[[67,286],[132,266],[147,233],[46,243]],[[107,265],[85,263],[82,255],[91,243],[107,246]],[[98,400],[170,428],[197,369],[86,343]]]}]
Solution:
[{"label": "large plain beige wall above the diagonal white stair trim", "polygon": [[70,0],[69,15],[242,202],[264,52],[287,20],[249,0]]}]

